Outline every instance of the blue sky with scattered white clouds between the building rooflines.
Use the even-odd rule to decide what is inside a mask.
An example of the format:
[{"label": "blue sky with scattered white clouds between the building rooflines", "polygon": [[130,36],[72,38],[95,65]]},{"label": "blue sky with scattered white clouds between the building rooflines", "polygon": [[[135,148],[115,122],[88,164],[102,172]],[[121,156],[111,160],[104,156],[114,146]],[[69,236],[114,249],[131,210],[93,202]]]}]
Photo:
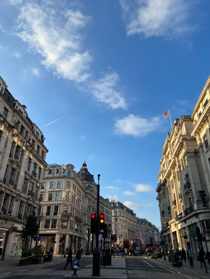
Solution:
[{"label": "blue sky with scattered white clouds between the building rooflines", "polygon": [[191,114],[209,76],[209,2],[2,0],[0,9],[0,75],[46,137],[47,163],[79,171],[85,158],[101,195],[160,226],[155,189],[171,131],[161,115]]}]

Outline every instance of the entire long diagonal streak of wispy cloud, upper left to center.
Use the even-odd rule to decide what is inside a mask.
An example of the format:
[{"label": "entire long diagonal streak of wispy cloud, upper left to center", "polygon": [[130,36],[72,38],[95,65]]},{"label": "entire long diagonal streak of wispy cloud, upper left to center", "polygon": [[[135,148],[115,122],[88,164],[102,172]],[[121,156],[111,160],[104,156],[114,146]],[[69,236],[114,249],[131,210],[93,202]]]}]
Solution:
[{"label": "entire long diagonal streak of wispy cloud, upper left to center", "polygon": [[90,18],[79,10],[59,9],[46,1],[40,5],[26,3],[20,9],[16,34],[57,77],[74,81],[80,90],[108,108],[126,109],[119,75],[112,71],[96,79],[91,73],[93,57],[83,46],[83,32]]}]

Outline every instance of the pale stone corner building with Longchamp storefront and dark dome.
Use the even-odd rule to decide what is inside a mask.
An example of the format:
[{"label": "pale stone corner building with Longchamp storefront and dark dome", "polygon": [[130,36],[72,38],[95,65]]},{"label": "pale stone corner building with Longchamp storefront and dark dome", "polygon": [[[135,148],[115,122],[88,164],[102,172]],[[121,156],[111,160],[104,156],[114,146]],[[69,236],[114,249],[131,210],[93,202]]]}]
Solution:
[{"label": "pale stone corner building with Longchamp storefront and dark dome", "polygon": [[[38,211],[41,242],[44,250],[53,246],[60,254],[67,247],[81,247],[91,251],[95,236],[90,234],[91,214],[96,212],[97,185],[84,162],[76,173],[72,164],[48,165],[43,172]],[[111,204],[100,197],[100,213],[105,214],[105,223],[111,222]],[[111,246],[110,233],[106,247]],[[102,243],[101,243],[102,244]]]}]

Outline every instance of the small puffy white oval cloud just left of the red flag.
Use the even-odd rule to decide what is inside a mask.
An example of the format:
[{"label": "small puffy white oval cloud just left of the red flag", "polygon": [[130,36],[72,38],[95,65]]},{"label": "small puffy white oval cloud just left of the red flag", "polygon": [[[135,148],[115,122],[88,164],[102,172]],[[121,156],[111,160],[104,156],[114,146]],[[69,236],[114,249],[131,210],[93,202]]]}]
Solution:
[{"label": "small puffy white oval cloud just left of the red flag", "polygon": [[161,125],[162,122],[159,117],[147,119],[129,114],[128,116],[116,121],[115,133],[119,135],[142,137],[159,130]]}]

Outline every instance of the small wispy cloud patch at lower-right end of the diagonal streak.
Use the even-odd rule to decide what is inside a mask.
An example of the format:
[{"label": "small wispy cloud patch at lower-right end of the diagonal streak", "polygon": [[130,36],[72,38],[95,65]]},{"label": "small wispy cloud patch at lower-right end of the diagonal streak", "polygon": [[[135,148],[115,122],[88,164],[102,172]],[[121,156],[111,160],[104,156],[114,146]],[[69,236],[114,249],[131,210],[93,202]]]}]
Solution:
[{"label": "small wispy cloud patch at lower-right end of the diagonal streak", "polygon": [[97,102],[103,102],[113,109],[126,109],[126,100],[117,86],[119,79],[116,72],[106,73],[103,78],[90,82],[89,91]]}]

